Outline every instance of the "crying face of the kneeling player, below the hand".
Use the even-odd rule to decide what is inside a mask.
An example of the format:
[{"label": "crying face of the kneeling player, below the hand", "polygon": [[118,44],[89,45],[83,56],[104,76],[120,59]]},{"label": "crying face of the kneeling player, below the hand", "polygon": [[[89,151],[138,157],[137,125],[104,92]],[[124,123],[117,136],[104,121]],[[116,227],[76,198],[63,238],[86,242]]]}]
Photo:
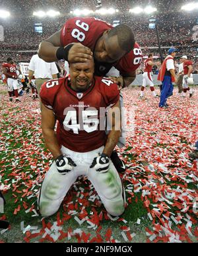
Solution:
[{"label": "crying face of the kneeling player, below the hand", "polygon": [[77,92],[83,92],[90,87],[94,76],[94,59],[69,65],[71,87]]}]

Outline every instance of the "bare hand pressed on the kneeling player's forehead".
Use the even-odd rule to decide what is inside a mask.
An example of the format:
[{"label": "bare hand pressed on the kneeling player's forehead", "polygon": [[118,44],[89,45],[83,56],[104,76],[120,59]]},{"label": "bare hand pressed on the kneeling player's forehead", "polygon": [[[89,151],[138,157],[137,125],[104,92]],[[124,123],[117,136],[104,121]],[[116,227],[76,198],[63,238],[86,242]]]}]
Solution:
[{"label": "bare hand pressed on the kneeling player's forehead", "polygon": [[81,43],[75,43],[69,50],[68,62],[86,62],[92,58],[90,48],[83,46]]}]

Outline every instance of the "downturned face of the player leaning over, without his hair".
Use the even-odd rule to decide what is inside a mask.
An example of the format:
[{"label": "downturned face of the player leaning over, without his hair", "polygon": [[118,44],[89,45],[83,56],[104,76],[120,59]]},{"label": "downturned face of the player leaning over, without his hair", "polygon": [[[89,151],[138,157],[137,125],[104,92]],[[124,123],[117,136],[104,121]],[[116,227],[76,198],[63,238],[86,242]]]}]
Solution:
[{"label": "downturned face of the player leaning over, without his hair", "polygon": [[117,36],[108,38],[108,33],[98,39],[94,49],[94,58],[98,62],[114,63],[126,54],[118,44]]}]

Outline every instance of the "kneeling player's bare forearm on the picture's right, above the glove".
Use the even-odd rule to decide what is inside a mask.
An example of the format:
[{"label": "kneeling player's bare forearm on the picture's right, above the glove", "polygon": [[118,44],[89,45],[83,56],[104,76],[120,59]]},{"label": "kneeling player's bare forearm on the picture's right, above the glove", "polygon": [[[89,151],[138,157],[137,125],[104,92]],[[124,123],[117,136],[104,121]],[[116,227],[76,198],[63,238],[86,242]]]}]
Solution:
[{"label": "kneeling player's bare forearm on the picture's right, above the glove", "polygon": [[112,151],[114,150],[114,148],[117,145],[117,142],[118,142],[120,136],[121,136],[120,131],[116,131],[116,130],[110,131],[110,133],[108,134],[108,140],[106,142],[106,145],[105,145],[102,153],[106,153],[106,155],[108,155],[108,157],[110,157],[110,155],[112,154]]}]

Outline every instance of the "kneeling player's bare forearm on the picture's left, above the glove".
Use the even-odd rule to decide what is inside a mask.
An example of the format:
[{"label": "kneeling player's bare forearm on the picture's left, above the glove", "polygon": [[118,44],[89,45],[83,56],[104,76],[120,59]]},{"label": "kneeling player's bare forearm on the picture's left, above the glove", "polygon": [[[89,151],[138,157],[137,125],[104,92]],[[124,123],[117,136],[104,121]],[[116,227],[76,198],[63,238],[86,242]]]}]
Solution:
[{"label": "kneeling player's bare forearm on the picture's left, above the glove", "polygon": [[59,148],[59,144],[57,142],[57,136],[52,129],[42,128],[44,140],[46,143],[46,147],[51,151],[53,158],[57,158],[61,155],[61,149]]}]

